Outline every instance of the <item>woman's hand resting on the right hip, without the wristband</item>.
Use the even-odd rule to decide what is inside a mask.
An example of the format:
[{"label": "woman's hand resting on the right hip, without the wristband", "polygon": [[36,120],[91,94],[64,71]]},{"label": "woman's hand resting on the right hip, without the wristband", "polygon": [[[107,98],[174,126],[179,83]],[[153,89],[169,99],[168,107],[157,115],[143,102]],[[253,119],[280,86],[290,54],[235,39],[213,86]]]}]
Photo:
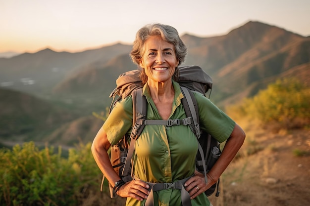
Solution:
[{"label": "woman's hand resting on the right hip, without the wristband", "polygon": [[189,192],[191,199],[194,199],[198,195],[202,194],[207,189],[209,189],[215,182],[216,180],[213,180],[212,177],[207,174],[207,184],[206,184],[204,174],[195,170],[194,176],[189,178],[185,182],[184,186],[186,191]]}]

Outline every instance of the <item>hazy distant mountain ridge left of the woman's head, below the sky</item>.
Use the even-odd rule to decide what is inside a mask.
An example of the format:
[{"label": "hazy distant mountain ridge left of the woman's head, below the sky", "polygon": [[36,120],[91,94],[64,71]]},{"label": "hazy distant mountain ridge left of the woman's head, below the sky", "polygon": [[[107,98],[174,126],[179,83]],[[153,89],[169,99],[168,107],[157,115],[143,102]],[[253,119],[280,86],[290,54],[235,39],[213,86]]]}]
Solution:
[{"label": "hazy distant mountain ridge left of the woman's head, below the sky", "polygon": [[[83,52],[55,52],[50,48],[36,53],[24,53],[12,58],[0,58],[0,82],[12,82],[11,88],[34,95],[50,95],[52,88],[79,71],[84,65],[128,54],[130,45],[114,44]],[[27,78],[27,79],[26,79]],[[31,85],[23,80],[31,80]]]}]

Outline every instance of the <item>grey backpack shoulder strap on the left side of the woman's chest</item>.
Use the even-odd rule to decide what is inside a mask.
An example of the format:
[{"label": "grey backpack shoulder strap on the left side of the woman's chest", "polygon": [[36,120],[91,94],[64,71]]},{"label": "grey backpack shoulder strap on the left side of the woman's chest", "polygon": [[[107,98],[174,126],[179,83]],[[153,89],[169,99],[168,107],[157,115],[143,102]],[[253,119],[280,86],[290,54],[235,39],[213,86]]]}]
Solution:
[{"label": "grey backpack shoulder strap on the left side of the woman's chest", "polygon": [[[122,176],[129,176],[131,174],[131,158],[135,149],[136,139],[140,136],[145,124],[140,124],[146,119],[147,113],[147,99],[142,95],[142,88],[134,90],[132,93],[132,108],[133,108],[133,120],[132,120],[132,131],[130,134],[130,144],[125,160],[125,165],[122,171]],[[126,181],[126,180],[124,180]]]}]

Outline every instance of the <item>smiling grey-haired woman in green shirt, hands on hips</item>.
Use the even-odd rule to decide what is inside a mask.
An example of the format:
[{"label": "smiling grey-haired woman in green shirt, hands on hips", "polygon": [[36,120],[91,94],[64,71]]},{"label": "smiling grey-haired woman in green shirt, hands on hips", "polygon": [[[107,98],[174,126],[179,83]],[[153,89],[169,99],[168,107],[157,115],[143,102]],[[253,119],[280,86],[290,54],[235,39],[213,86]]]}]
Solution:
[{"label": "smiling grey-haired woman in green shirt, hands on hips", "polygon": [[[178,32],[171,26],[147,25],[137,32],[130,55],[141,67],[140,79],[145,83],[143,94],[148,101],[147,119],[186,117],[181,104],[183,94],[174,81],[177,66],[184,61],[186,53]],[[109,183],[115,184],[116,194],[127,198],[127,206],[145,204],[150,194],[148,182],[173,183],[185,178],[184,187],[192,206],[210,205],[204,191],[218,180],[237,154],[245,133],[206,97],[195,92],[194,95],[199,106],[201,128],[219,142],[227,140],[220,158],[207,173],[207,184],[204,175],[195,170],[198,143],[189,126],[146,125],[135,144],[134,180],[124,183],[119,178],[110,164],[107,150],[131,131],[131,96],[114,107],[99,130],[92,145],[93,156]],[[169,188],[154,192],[154,205],[181,206],[181,191]]]}]

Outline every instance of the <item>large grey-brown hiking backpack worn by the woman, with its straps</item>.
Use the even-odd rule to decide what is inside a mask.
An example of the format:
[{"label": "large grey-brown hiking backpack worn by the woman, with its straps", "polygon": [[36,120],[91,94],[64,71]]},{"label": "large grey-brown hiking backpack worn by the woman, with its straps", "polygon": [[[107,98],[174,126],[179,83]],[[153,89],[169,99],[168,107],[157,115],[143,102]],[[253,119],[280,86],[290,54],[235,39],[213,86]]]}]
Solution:
[{"label": "large grey-brown hiking backpack worn by the woman, with its straps", "polygon": [[[196,169],[205,175],[207,182],[207,172],[212,168],[221,154],[219,142],[205,131],[200,130],[198,104],[192,91],[197,91],[206,96],[207,91],[212,88],[212,79],[198,66],[179,67],[178,83],[181,86],[182,93],[185,98],[182,104],[187,118],[183,120],[146,120],[147,100],[142,95],[143,84],[139,79],[139,70],[132,70],[121,74],[116,80],[116,88],[110,94],[113,97],[109,113],[113,109],[116,102],[132,95],[133,101],[133,125],[130,136],[124,135],[116,144],[111,145],[110,161],[119,177],[128,182],[132,180],[131,158],[134,151],[136,139],[141,134],[146,124],[166,124],[179,125],[188,124],[197,136],[199,142],[199,151],[196,156]],[[210,95],[210,94],[209,94]],[[117,98],[116,98],[117,97]],[[116,98],[116,99],[115,99]],[[130,144],[129,144],[130,142]],[[101,184],[103,188],[104,175]],[[219,196],[219,180],[212,185],[207,191],[207,196],[214,193]],[[115,198],[113,186],[109,184],[110,197]]]}]

